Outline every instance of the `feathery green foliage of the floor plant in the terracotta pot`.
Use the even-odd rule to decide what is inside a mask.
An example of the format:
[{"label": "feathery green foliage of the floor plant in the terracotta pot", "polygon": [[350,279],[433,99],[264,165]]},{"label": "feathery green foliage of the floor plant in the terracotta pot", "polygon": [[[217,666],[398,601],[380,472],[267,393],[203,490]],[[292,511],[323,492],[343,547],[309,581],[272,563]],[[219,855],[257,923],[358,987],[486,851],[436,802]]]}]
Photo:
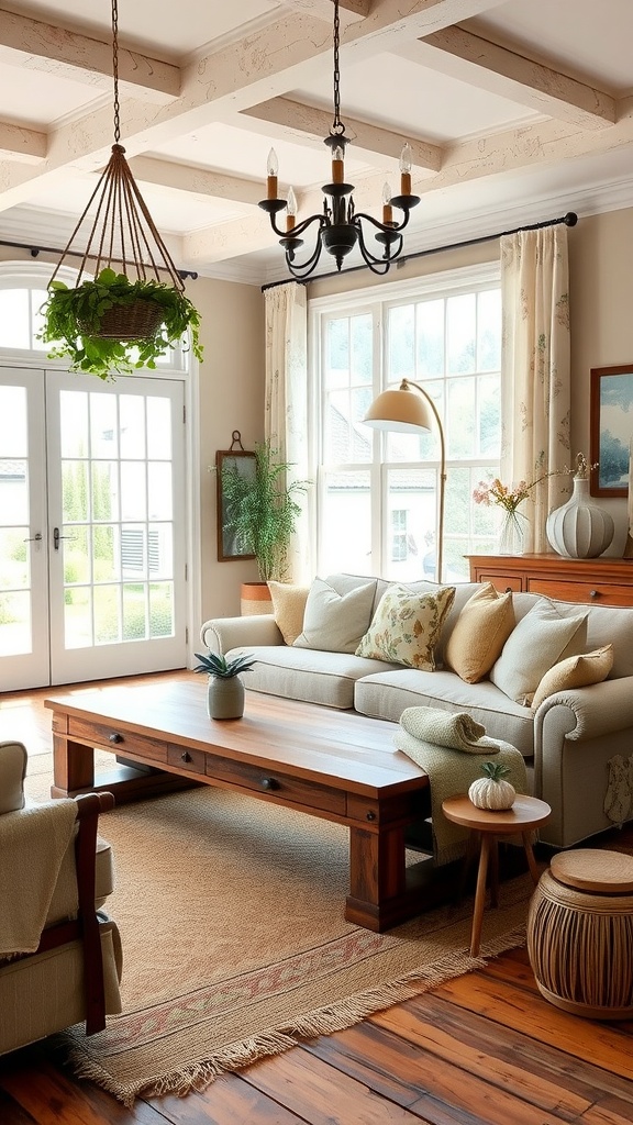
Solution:
[{"label": "feathery green foliage of the floor plant in the terracotta pot", "polygon": [[301,505],[295,497],[307,492],[311,480],[291,480],[288,461],[278,460],[270,440],[255,447],[255,475],[248,478],[232,465],[222,469],[225,520],[244,554],[255,555],[262,582],[283,582],[287,552]]}]

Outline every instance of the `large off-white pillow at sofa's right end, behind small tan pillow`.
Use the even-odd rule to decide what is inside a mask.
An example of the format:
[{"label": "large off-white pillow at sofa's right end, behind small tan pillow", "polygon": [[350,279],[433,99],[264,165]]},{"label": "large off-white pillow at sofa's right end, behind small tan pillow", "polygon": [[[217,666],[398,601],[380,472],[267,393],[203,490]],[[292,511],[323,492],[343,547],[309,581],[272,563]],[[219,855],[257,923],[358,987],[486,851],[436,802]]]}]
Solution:
[{"label": "large off-white pillow at sofa's right end, behind small tan pillow", "polygon": [[[492,683],[516,703],[529,706],[545,673],[573,654],[571,642],[588,612],[567,616],[546,597],[541,598],[512,629],[490,669]],[[580,630],[580,645],[585,636]]]}]

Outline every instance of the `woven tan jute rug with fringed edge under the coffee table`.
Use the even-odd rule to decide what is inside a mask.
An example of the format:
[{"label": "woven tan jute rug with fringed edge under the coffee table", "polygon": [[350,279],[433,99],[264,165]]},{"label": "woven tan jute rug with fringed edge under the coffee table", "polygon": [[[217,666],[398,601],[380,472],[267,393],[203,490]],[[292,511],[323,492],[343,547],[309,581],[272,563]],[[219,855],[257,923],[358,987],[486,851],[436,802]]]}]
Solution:
[{"label": "woven tan jute rug with fringed edge under the coffee table", "polygon": [[[50,758],[33,758],[43,798]],[[348,834],[208,786],[101,817],[117,886],[124,1011],[105,1032],[64,1033],[75,1072],[126,1105],[186,1095],[223,1071],[349,1027],[525,940],[528,876],[505,883],[467,952],[472,899],[386,934],[346,922]],[[419,858],[417,856],[416,858]]]}]

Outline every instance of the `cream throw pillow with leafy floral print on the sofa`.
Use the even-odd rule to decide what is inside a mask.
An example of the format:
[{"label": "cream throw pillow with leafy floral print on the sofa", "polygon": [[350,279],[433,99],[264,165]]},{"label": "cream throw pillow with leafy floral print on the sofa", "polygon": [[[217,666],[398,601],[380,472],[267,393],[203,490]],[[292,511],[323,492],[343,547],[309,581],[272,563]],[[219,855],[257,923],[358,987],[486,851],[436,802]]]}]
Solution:
[{"label": "cream throw pillow with leafy floral print on the sofa", "polygon": [[405,586],[390,586],[356,656],[433,672],[434,648],[454,597],[454,586],[444,586],[435,594],[412,594]]}]

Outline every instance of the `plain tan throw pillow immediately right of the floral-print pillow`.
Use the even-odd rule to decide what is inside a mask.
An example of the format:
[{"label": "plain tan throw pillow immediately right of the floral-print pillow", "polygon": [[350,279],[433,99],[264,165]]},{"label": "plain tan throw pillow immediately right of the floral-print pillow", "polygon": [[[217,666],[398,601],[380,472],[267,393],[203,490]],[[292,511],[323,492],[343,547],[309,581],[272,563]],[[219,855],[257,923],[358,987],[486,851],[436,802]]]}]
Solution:
[{"label": "plain tan throw pillow immediately right of the floral-print pillow", "polygon": [[460,680],[476,684],[488,675],[515,628],[512,594],[499,594],[491,582],[482,585],[462,609],[451,633],[444,663]]}]

